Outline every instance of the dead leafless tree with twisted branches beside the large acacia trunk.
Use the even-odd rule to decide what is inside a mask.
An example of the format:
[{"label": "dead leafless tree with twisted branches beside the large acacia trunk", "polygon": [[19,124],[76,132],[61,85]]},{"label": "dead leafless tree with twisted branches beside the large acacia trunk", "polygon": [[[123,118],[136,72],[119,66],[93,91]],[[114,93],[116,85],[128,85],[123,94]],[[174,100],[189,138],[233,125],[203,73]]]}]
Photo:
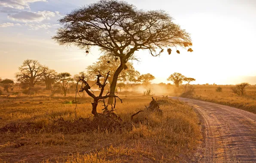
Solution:
[{"label": "dead leafless tree with twisted branches beside the large acacia trunk", "polygon": [[[88,82],[86,82],[86,80],[85,80],[85,78],[86,78],[85,75],[82,74],[82,75],[79,77],[78,83],[79,83],[79,82],[82,82],[82,86],[81,86],[79,92],[85,91],[90,97],[93,98],[93,103],[91,103],[91,105],[92,105],[92,111],[91,111],[91,113],[92,113],[95,117],[97,117],[97,116],[100,114],[100,115],[107,115],[108,118],[110,118],[111,116],[118,118],[117,115],[116,115],[115,113],[113,113],[113,111],[114,111],[114,109],[115,109],[115,107],[116,107],[116,98],[119,98],[119,97],[116,96],[115,94],[111,95],[109,92],[108,92],[105,96],[103,96],[104,88],[105,88],[105,86],[107,85],[107,78],[109,77],[109,73],[110,73],[110,72],[107,73],[107,76],[106,76],[106,77],[102,76],[100,72],[99,72],[98,75],[96,75],[96,76],[97,76],[96,85],[98,85],[98,87],[101,88],[101,92],[100,92],[100,94],[99,94],[98,96],[95,96],[95,95],[92,93],[93,91],[91,91],[90,85],[89,85]],[[101,81],[100,78],[102,78],[102,77],[104,78],[103,84],[101,84],[101,82],[100,82],[100,81]],[[115,101],[114,101],[114,106],[111,105],[111,110],[108,110],[108,109],[107,109],[107,106],[105,105],[105,99],[107,99],[107,98],[109,98],[109,97],[113,97],[114,100],[115,100]],[[122,99],[119,98],[119,100],[120,100],[121,103],[122,103]],[[98,113],[98,112],[97,112],[97,106],[98,106],[98,103],[99,103],[99,102],[103,102],[103,104],[104,104],[104,109],[102,109],[102,110],[104,110],[103,113]]]}]

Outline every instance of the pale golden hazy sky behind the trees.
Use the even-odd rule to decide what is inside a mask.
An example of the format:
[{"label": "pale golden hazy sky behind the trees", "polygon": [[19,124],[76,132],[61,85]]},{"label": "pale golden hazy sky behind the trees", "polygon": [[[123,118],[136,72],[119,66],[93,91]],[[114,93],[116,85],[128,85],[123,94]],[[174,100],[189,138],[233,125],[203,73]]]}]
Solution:
[{"label": "pale golden hazy sky behind the trees", "polygon": [[[126,0],[138,9],[168,12],[191,34],[194,50],[152,57],[137,51],[134,68],[164,82],[180,72],[192,84],[256,84],[256,0]],[[0,78],[14,78],[25,59],[35,59],[57,72],[84,71],[101,55],[97,48],[85,55],[75,46],[51,39],[58,19],[94,0],[0,0]]]}]

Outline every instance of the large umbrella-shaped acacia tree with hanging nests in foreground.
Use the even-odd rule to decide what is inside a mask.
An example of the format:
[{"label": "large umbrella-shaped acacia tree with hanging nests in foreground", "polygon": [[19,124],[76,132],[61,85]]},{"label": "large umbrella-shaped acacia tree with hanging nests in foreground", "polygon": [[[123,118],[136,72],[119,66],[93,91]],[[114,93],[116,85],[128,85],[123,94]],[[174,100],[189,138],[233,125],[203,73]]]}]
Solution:
[{"label": "large umbrella-shaped acacia tree with hanging nests in foreground", "polygon": [[[97,46],[120,60],[110,85],[111,96],[120,72],[127,69],[128,60],[135,58],[135,51],[148,50],[158,56],[164,49],[171,54],[171,47],[192,45],[189,33],[175,24],[168,13],[139,10],[124,1],[101,0],[73,10],[59,22],[62,27],[53,39],[60,45],[73,44],[85,50]],[[108,103],[113,103],[113,97]]]}]

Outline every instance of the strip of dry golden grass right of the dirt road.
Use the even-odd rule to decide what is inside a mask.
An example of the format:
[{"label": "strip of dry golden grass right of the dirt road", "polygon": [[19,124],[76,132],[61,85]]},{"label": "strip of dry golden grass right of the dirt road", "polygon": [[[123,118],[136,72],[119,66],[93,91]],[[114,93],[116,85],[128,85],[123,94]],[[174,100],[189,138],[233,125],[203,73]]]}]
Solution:
[{"label": "strip of dry golden grass right of the dirt road", "polygon": [[219,103],[256,113],[256,86],[246,87],[246,94],[244,96],[238,96],[232,93],[231,87],[234,86],[221,85],[222,92],[216,92],[216,88],[219,87],[219,85],[195,85],[194,87],[195,94],[189,98]]}]

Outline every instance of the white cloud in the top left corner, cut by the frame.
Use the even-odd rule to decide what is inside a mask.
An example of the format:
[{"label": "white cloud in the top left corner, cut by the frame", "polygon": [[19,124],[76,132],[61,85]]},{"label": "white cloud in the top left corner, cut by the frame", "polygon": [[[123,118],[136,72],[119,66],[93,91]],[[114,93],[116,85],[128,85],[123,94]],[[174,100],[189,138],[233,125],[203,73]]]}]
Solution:
[{"label": "white cloud in the top left corner, cut by the frame", "polygon": [[47,0],[0,0],[0,6],[13,9],[30,9],[30,3],[47,2]]}]

